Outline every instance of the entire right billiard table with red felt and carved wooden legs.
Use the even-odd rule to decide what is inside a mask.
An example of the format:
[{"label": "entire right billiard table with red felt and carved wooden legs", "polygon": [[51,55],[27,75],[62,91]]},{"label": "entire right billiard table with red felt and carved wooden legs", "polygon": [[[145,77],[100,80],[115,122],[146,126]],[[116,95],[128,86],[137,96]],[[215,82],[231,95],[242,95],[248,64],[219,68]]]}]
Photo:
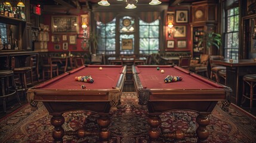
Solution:
[{"label": "entire right billiard table with red felt and carved wooden legs", "polygon": [[[161,70],[164,70],[164,73]],[[225,108],[228,108],[230,104],[229,98],[232,90],[229,87],[212,82],[178,66],[132,66],[132,74],[139,104],[146,105],[149,110],[147,122],[150,129],[148,133],[152,142],[157,142],[160,136],[174,139],[198,137],[198,142],[206,142],[209,136],[206,129],[209,125],[208,115],[211,114],[218,101],[225,101],[223,102]],[[182,77],[182,80],[165,82],[165,77],[168,75]],[[187,133],[181,130],[161,132],[159,115],[171,110],[196,111],[198,113],[196,122],[199,125],[196,132]]]}]

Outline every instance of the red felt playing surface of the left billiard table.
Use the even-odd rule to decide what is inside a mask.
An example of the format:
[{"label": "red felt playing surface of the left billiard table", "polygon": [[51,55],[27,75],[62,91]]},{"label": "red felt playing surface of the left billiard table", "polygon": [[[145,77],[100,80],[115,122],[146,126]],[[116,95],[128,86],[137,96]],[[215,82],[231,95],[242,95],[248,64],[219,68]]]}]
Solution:
[{"label": "red felt playing surface of the left billiard table", "polygon": [[[99,70],[102,67],[102,70]],[[81,67],[70,71],[70,73],[61,74],[53,80],[37,86],[44,89],[81,89],[81,85],[85,85],[86,89],[112,89],[116,87],[122,73],[122,66],[88,66]],[[76,76],[91,75],[94,79],[93,83],[76,81]]]}]

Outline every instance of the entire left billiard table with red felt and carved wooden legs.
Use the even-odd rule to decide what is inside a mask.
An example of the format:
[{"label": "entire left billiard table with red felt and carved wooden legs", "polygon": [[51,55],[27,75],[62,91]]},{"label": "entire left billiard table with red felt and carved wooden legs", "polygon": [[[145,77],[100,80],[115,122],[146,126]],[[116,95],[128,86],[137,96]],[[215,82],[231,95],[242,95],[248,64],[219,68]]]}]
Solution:
[{"label": "entire left billiard table with red felt and carved wooden legs", "polygon": [[[102,67],[100,70],[99,67]],[[78,137],[99,135],[100,142],[109,140],[110,124],[109,111],[116,107],[121,98],[125,81],[126,66],[85,65],[66,72],[40,85],[30,88],[27,100],[35,106],[42,101],[53,116],[51,125],[54,126],[54,142],[63,142],[64,135],[77,135]],[[93,83],[75,80],[77,76],[91,76]],[[85,89],[81,86],[85,85]],[[87,110],[99,114],[97,119],[99,131],[79,129],[65,130],[62,114],[66,111]]]}]

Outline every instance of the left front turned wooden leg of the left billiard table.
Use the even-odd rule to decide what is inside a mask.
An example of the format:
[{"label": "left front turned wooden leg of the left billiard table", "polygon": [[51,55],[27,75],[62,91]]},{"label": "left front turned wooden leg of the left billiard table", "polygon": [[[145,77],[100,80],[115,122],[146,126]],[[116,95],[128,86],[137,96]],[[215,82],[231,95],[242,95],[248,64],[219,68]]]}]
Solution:
[{"label": "left front turned wooden leg of the left billiard table", "polygon": [[54,142],[63,142],[64,129],[62,128],[63,123],[65,122],[62,114],[53,115],[51,117],[51,125],[54,126],[53,138]]}]

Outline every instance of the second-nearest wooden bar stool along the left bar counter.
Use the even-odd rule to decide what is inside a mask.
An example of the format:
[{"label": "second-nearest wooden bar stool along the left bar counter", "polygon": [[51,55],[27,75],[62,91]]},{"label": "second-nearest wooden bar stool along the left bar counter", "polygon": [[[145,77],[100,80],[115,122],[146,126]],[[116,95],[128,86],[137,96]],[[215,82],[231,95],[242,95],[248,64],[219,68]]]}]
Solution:
[{"label": "second-nearest wooden bar stool along the left bar counter", "polygon": [[[17,89],[17,91],[23,91],[24,95],[26,95],[27,91],[27,79],[26,79],[26,74],[29,72],[32,72],[32,64],[33,64],[33,58],[30,58],[29,61],[29,67],[15,67],[15,58],[11,58],[11,69],[13,70],[14,74],[19,74],[21,83],[20,89]],[[30,78],[30,82],[33,85],[33,78]]]}]

